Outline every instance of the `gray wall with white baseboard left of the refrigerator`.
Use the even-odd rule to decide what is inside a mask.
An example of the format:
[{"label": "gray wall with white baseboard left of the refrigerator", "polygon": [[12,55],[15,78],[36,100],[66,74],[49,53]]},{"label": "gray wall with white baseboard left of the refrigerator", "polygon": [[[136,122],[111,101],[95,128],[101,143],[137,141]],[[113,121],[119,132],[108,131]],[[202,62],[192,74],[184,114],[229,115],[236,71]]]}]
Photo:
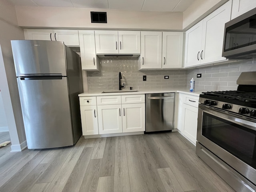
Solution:
[{"label": "gray wall with white baseboard left of the refrigerator", "polygon": [[12,151],[26,147],[20,98],[10,40],[24,39],[14,6],[0,0],[0,89],[8,123]]}]

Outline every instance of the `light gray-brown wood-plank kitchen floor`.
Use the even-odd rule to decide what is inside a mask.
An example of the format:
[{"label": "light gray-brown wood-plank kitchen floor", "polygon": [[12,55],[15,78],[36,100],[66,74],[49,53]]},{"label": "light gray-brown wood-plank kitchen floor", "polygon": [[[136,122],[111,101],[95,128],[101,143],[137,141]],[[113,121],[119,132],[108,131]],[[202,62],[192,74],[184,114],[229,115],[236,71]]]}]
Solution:
[{"label": "light gray-brown wood-plank kitchen floor", "polygon": [[0,148],[0,192],[234,192],[178,132],[8,148]]}]

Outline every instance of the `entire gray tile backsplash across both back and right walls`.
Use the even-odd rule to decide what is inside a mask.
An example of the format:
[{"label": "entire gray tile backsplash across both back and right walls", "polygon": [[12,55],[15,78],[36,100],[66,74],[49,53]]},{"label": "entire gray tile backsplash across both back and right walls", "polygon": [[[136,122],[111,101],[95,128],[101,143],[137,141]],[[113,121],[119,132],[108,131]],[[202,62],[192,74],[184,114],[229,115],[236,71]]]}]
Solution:
[{"label": "entire gray tile backsplash across both back and right walls", "polygon": [[[236,80],[241,72],[256,71],[256,59],[231,62],[194,69],[143,70],[139,71],[138,58],[99,58],[100,71],[87,71],[88,91],[118,90],[119,72],[122,74],[122,89],[152,90],[164,88],[188,88],[195,79],[195,90],[236,90]],[[196,78],[202,74],[202,78]],[[146,81],[142,76],[146,75]],[[164,79],[169,76],[169,79]]]}]

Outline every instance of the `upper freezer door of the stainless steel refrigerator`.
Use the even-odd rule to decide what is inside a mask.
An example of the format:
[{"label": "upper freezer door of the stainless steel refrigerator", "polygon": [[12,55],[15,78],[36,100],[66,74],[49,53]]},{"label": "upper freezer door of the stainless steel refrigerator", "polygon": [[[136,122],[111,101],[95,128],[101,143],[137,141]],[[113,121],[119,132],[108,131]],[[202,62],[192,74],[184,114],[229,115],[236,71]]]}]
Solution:
[{"label": "upper freezer door of the stainless steel refrigerator", "polygon": [[63,42],[12,40],[16,76],[20,74],[66,73],[66,50]]}]

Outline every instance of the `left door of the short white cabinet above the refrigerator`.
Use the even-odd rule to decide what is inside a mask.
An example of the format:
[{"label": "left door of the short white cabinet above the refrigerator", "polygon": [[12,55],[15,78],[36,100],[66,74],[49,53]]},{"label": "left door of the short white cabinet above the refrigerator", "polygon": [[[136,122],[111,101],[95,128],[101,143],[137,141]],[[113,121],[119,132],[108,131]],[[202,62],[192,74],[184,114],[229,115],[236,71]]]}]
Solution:
[{"label": "left door of the short white cabinet above the refrigerator", "polygon": [[24,29],[26,40],[54,40],[51,29]]}]

